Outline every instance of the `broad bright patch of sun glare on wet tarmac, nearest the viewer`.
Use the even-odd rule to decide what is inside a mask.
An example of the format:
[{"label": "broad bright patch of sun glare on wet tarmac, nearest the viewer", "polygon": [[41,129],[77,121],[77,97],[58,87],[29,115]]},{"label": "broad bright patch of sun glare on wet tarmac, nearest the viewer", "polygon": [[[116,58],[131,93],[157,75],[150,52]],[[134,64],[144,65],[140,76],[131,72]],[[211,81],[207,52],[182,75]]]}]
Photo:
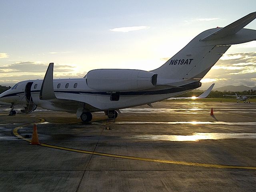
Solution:
[{"label": "broad bright patch of sun glare on wet tarmac, nearest the viewer", "polygon": [[199,141],[224,139],[256,139],[256,133],[193,133],[192,135],[136,135],[126,138],[148,141]]}]

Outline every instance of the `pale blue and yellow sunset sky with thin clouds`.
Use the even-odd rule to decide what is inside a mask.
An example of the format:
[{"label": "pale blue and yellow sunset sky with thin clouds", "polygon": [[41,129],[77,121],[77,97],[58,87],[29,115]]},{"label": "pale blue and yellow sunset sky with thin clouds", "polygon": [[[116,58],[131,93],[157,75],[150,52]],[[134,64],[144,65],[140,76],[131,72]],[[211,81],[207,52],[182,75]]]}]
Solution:
[{"label": "pale blue and yellow sunset sky with thin clouds", "polygon": [[[43,79],[50,62],[54,78],[153,70],[202,31],[255,11],[255,0],[1,0],[0,85]],[[201,82],[256,86],[256,41],[231,46]]]}]

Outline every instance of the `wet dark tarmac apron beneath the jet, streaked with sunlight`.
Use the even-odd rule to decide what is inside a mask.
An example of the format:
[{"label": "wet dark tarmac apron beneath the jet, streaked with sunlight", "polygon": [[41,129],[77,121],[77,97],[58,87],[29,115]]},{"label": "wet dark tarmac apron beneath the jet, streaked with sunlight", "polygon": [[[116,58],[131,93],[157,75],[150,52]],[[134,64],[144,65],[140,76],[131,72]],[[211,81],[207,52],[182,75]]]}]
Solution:
[{"label": "wet dark tarmac apron beneath the jet, streaked with sunlight", "polygon": [[[1,106],[0,192],[256,191],[256,103],[152,105],[88,124]],[[30,144],[34,123],[40,145]]]}]

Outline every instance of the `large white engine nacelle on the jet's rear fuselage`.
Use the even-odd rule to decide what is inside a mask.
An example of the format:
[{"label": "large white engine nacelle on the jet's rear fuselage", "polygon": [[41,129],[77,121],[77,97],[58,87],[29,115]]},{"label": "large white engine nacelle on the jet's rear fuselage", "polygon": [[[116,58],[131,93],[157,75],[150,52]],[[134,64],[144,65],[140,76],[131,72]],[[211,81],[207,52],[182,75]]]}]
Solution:
[{"label": "large white engine nacelle on the jet's rear fuselage", "polygon": [[91,89],[126,92],[153,88],[157,74],[135,69],[96,69],[89,71],[85,78]]}]

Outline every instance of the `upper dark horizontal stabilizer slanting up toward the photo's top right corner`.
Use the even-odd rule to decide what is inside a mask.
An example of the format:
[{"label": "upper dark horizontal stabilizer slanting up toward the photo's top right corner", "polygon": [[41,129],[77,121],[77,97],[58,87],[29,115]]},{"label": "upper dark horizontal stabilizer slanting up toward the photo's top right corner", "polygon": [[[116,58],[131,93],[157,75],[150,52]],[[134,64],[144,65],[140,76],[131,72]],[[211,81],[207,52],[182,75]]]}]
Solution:
[{"label": "upper dark horizontal stabilizer slanting up toward the photo's top right corner", "polygon": [[252,12],[244,16],[243,18],[238,19],[232,24],[229,24],[224,28],[220,28],[220,30],[206,36],[205,38],[202,38],[200,41],[212,41],[212,40],[216,40],[216,39],[220,39],[226,36],[236,34],[238,31],[240,31],[242,28],[244,28],[246,25],[252,22],[255,18],[256,18],[256,12]]}]

